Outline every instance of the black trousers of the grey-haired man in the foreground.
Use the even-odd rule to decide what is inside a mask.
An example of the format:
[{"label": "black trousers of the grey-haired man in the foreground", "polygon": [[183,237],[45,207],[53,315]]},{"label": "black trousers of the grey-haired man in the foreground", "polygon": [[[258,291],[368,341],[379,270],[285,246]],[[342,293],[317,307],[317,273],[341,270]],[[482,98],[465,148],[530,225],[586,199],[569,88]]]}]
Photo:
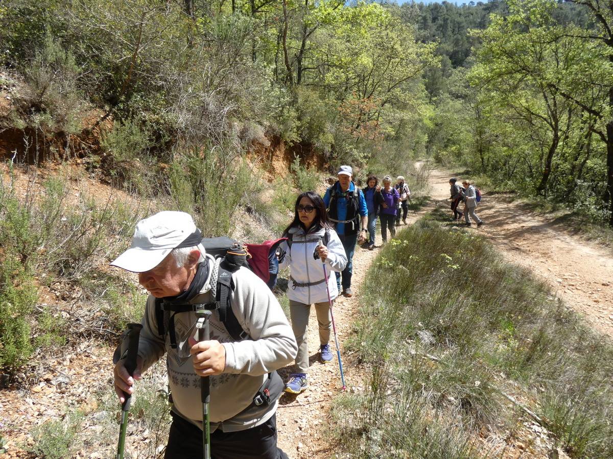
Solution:
[{"label": "black trousers of the grey-haired man in the foreground", "polygon": [[[202,430],[174,413],[164,459],[202,459]],[[276,414],[238,432],[211,433],[211,459],[287,459],[276,447]]]}]

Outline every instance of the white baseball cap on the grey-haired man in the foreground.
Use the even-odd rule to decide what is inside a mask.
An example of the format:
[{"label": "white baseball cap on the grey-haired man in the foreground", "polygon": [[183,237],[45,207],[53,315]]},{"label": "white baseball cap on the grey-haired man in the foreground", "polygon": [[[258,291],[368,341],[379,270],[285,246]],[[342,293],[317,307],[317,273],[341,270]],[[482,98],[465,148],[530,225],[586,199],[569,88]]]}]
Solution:
[{"label": "white baseball cap on the grey-haired man in the foreground", "polygon": [[[153,269],[178,247],[194,247],[202,242],[202,233],[186,212],[163,211],[136,224],[132,245],[111,266],[131,272]],[[202,245],[200,245],[202,253]],[[204,255],[204,253],[202,253]]]}]

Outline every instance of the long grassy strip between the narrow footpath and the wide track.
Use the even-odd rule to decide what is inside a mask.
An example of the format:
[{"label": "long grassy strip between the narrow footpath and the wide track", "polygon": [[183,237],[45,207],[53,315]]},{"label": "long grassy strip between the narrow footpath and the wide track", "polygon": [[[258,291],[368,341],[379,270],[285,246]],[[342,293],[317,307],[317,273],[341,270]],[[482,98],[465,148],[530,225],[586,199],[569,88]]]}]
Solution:
[{"label": "long grassy strip between the narrow footpath and the wide track", "polygon": [[511,395],[528,400],[571,457],[613,457],[611,343],[489,242],[441,226],[435,213],[384,247],[363,291],[348,347],[370,365],[370,385],[342,402],[353,411],[338,419],[341,449],[497,455],[479,435],[527,420]]}]

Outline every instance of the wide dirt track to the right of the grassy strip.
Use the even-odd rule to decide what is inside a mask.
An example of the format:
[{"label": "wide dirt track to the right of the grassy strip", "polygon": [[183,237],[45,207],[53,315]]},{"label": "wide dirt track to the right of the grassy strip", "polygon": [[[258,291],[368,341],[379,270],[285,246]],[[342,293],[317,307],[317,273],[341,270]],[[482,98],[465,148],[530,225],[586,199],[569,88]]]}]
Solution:
[{"label": "wide dirt track to the right of the grassy strip", "polygon": [[[448,180],[445,171],[430,174],[430,184],[437,192],[447,190]],[[530,269],[595,329],[613,336],[613,258],[609,251],[572,234],[572,228],[555,218],[514,202],[509,195],[485,193],[477,214],[485,224],[471,231],[484,234],[505,259]]]}]

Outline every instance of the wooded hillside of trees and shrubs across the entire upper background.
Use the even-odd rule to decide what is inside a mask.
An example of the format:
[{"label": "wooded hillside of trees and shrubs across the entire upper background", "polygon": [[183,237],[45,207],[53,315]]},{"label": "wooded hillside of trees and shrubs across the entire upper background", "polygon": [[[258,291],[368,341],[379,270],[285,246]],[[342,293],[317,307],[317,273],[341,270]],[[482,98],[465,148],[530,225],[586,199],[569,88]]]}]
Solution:
[{"label": "wooded hillside of trees and shrubs across the entire upper background", "polygon": [[[613,20],[600,0],[12,0],[0,21],[15,93],[3,129],[40,132],[39,147],[124,182],[279,138],[373,170],[428,152],[613,223]],[[100,144],[71,140],[93,127]],[[23,150],[16,138],[7,153]]]}]

